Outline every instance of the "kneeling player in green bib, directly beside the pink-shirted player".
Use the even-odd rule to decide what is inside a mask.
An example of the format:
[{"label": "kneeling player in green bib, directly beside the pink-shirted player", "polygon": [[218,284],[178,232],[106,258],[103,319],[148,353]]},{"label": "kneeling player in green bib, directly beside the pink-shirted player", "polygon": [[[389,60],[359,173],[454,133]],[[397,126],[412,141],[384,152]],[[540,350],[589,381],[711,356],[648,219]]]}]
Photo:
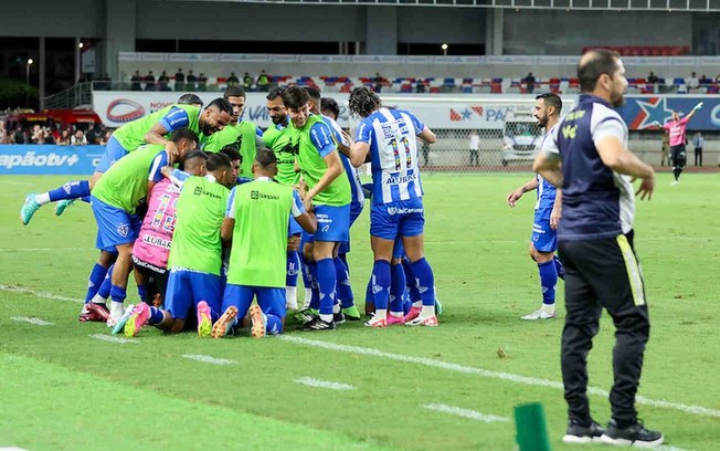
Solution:
[{"label": "kneeling player in green bib, directly beside the pink-shirted player", "polygon": [[127,336],[137,335],[148,323],[165,331],[181,332],[191,310],[198,315],[198,334],[210,336],[222,302],[220,226],[227,203],[227,188],[235,180],[230,158],[224,154],[208,157],[208,171],[207,177],[179,180],[182,188],[168,260],[166,310],[140,303],[125,325]]}]

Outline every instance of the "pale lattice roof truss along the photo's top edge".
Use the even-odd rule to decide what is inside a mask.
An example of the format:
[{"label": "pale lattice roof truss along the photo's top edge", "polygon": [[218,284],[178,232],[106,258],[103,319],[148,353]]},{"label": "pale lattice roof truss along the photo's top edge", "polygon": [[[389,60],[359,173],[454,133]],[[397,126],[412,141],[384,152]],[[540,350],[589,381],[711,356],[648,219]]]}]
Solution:
[{"label": "pale lattice roof truss along the photo's top edge", "polygon": [[[189,0],[197,1],[197,0]],[[234,3],[720,12],[718,0],[201,0]]]}]

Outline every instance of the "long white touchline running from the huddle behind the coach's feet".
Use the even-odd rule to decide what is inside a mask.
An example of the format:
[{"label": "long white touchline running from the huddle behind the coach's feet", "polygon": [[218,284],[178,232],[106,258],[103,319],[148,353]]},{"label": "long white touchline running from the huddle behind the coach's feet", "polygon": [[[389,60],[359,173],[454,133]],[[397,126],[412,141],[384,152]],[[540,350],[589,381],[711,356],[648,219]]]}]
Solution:
[{"label": "long white touchline running from the huddle behind the coach's feet", "polygon": [[[295,344],[304,345],[304,346],[311,346],[311,347],[317,347],[317,348],[322,348],[322,349],[338,350],[338,352],[341,352],[341,353],[350,353],[350,354],[359,354],[359,355],[364,355],[364,356],[380,357],[380,358],[384,358],[387,360],[395,360],[395,361],[403,361],[403,363],[406,363],[406,364],[423,365],[423,366],[427,366],[427,367],[432,367],[432,368],[440,368],[440,369],[445,369],[445,370],[449,370],[449,371],[477,375],[477,376],[480,376],[480,377],[507,380],[507,381],[510,381],[510,382],[522,384],[522,385],[528,385],[528,386],[549,387],[549,388],[554,388],[554,389],[559,389],[559,390],[563,389],[562,382],[558,382],[558,381],[554,381],[554,380],[548,380],[548,379],[540,379],[540,378],[536,378],[536,377],[520,376],[520,375],[516,375],[516,374],[512,374],[512,373],[493,371],[493,370],[488,370],[488,369],[470,367],[470,366],[465,366],[465,365],[448,364],[446,361],[434,360],[434,359],[431,359],[431,358],[413,357],[413,356],[406,356],[406,355],[403,355],[403,354],[384,353],[384,352],[379,350],[379,349],[363,348],[363,347],[359,347],[359,346],[338,345],[338,344],[335,344],[335,343],[318,342],[318,340],[300,338],[300,337],[296,337],[296,336],[292,336],[292,335],[279,335],[278,338],[283,339],[285,342],[290,342],[290,343],[295,343]],[[607,390],[603,390],[603,389],[596,388],[596,387],[587,387],[587,392],[592,394],[592,395],[602,396],[602,397],[605,397],[605,398],[608,396]],[[720,418],[720,410],[710,409],[710,408],[702,407],[702,406],[689,406],[689,405],[685,405],[685,403],[681,403],[681,402],[673,402],[673,401],[666,401],[666,400],[650,399],[650,398],[646,398],[646,397],[643,397],[643,396],[638,396],[636,398],[636,401],[639,405],[646,405],[646,406],[652,406],[652,407],[660,407],[660,408],[666,408],[666,409],[679,410],[679,411],[682,411],[682,412],[686,412],[686,413],[692,413],[692,415],[697,415],[697,416],[700,416],[700,417]]]}]

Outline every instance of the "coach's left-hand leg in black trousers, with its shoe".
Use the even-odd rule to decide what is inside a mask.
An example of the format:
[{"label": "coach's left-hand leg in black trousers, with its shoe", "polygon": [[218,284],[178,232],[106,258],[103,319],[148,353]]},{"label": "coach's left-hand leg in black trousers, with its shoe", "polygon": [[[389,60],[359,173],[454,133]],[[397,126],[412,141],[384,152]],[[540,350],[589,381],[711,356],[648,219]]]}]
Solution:
[{"label": "coach's left-hand leg in black trousers, with its shoe", "polygon": [[[562,331],[561,366],[568,402],[568,432],[563,441],[578,443],[594,441],[602,429],[590,415],[587,399],[587,353],[592,338],[600,329],[602,306],[592,286],[586,282],[589,260],[594,250],[587,242],[560,243],[560,256],[565,264],[565,324]],[[596,260],[596,259],[594,259]],[[592,263],[592,261],[590,261]]]}]

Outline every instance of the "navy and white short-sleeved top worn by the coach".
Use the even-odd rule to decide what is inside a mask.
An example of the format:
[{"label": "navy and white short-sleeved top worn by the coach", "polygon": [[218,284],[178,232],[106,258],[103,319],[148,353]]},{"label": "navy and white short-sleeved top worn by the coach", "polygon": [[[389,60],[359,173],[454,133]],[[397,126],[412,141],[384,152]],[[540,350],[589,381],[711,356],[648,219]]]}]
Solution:
[{"label": "navy and white short-sleeved top worn by the coach", "polygon": [[633,229],[635,196],[629,177],[605,166],[596,143],[617,138],[627,148],[627,125],[607,102],[583,94],[546,139],[542,151],[562,160],[559,240],[597,240]]}]

